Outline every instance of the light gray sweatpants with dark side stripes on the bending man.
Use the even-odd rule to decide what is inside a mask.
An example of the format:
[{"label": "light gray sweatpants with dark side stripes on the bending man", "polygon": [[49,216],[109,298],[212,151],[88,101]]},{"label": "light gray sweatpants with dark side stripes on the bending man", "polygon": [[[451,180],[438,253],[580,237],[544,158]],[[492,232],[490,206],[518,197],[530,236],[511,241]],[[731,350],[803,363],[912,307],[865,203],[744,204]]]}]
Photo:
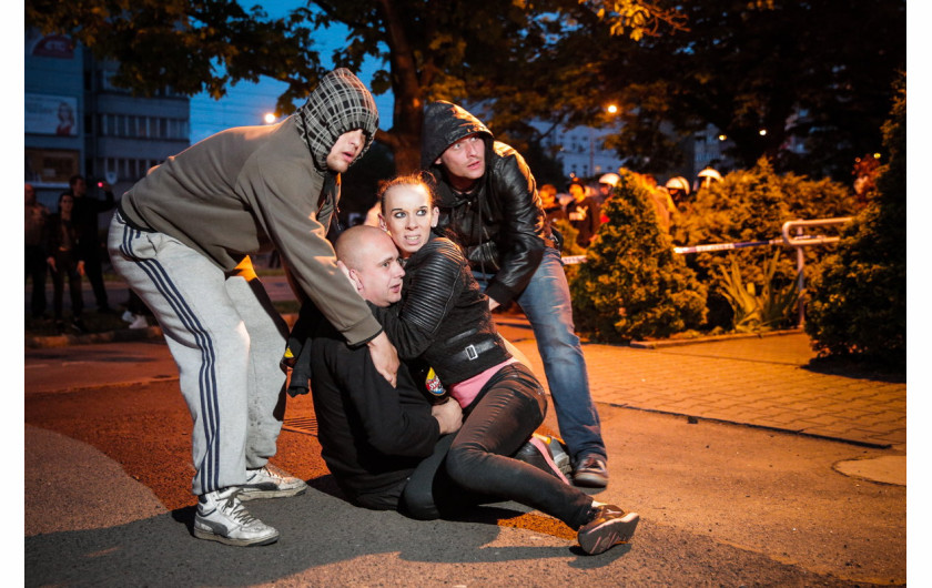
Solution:
[{"label": "light gray sweatpants with dark side stripes on the bending man", "polygon": [[[275,455],[285,409],[287,325],[251,266],[230,275],[163,233],[113,215],[113,267],[145,302],[178,364],[194,419],[195,495],[242,485]],[[252,277],[252,278],[250,278]]]}]

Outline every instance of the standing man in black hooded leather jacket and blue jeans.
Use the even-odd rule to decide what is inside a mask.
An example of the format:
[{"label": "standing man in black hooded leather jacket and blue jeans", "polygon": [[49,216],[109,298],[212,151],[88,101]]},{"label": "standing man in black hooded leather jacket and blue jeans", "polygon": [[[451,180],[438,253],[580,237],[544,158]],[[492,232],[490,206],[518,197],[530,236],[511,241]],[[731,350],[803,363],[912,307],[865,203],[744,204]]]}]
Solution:
[{"label": "standing man in black hooded leather jacket and blue jeans", "polygon": [[515,301],[530,321],[574,481],[606,486],[605,442],[574,332],[559,243],[524,158],[495,141],[473,114],[439,101],[424,113],[421,163],[435,184],[438,226],[466,250],[490,307]]}]

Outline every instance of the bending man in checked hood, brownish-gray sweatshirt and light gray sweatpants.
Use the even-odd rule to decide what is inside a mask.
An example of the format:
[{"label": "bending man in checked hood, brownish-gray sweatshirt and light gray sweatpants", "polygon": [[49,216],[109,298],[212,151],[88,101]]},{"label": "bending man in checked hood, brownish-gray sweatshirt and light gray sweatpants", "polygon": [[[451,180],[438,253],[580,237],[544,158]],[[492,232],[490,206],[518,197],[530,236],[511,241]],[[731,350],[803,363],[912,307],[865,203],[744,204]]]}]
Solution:
[{"label": "bending man in checked hood, brownish-gray sweatshirt and light gray sweatpants", "polygon": [[159,320],[194,419],[199,538],[274,543],[278,531],[242,501],[307,488],[267,465],[284,416],[287,326],[250,254],[277,250],[298,296],[347,343],[367,344],[395,384],[395,348],[325,237],[340,174],[377,129],[372,94],[337,69],[281,123],[210,136],[151,170],[120,201],[108,240],[113,266]]}]

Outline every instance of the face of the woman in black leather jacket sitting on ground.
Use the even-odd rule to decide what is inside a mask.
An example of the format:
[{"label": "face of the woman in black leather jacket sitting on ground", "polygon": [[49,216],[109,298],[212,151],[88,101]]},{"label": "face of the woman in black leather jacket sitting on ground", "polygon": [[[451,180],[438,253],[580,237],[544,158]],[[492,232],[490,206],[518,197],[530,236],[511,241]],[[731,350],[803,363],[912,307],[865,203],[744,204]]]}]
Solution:
[{"label": "face of the woman in black leather jacket sitting on ground", "polygon": [[430,239],[440,211],[432,206],[427,189],[421,184],[392,186],[382,195],[382,227],[392,235],[402,257],[411,255]]}]

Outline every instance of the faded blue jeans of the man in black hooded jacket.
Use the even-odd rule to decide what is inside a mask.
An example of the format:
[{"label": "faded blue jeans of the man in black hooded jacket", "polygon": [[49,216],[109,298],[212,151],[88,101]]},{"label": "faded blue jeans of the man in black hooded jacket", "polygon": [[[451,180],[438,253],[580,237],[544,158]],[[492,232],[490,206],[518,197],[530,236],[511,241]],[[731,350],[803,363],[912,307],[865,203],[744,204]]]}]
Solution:
[{"label": "faded blue jeans of the man in black hooded jacket", "polygon": [[[483,291],[494,277],[478,272],[473,275]],[[534,330],[557,424],[573,463],[588,454],[607,457],[599,414],[589,393],[586,359],[573,324],[569,285],[557,250],[544,250],[540,265],[516,302]]]}]

